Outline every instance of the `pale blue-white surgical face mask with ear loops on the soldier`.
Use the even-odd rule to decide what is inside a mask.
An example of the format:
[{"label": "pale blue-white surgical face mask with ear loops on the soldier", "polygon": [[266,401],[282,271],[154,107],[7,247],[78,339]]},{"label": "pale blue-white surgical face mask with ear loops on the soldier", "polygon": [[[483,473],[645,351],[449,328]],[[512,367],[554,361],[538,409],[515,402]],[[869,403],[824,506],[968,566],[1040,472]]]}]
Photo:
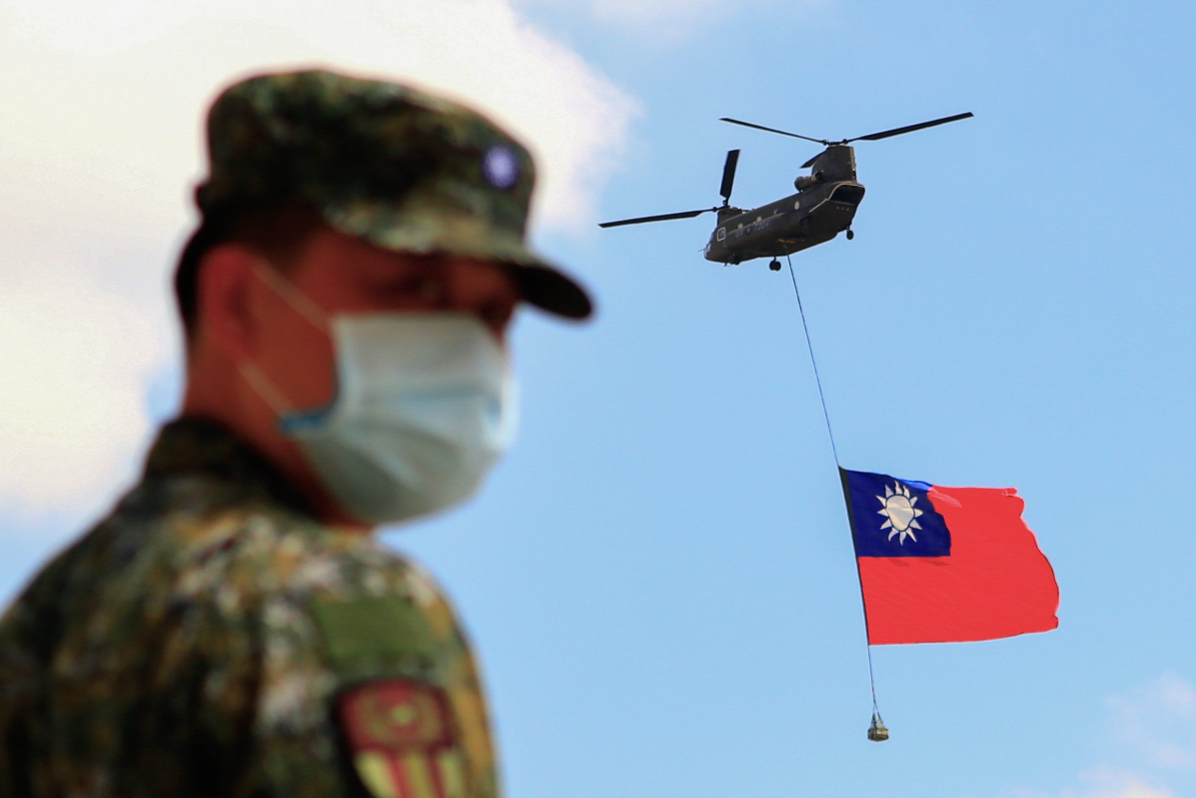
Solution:
[{"label": "pale blue-white surgical face mask with ear loops on the soldier", "polygon": [[245,380],[279,414],[324,487],[354,518],[388,523],[456,505],[477,492],[514,432],[509,361],[471,313],[334,316],[268,267],[263,280],[329,329],[336,394],[293,408],[256,364]]}]

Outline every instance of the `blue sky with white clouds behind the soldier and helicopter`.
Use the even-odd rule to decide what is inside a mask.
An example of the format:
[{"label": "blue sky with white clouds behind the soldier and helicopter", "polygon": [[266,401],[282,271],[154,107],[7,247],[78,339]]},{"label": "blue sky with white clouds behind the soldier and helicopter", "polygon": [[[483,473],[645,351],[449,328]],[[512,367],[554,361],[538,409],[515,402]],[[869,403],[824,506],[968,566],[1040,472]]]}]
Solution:
[{"label": "blue sky with white clouds behind the soldier and helicopter", "polygon": [[[1196,421],[1180,2],[0,0],[0,599],[177,410],[167,280],[228,80],[334,65],[468,98],[542,164],[599,301],[526,313],[519,439],[383,540],[477,642],[511,796],[1196,796]],[[856,237],[794,256],[841,462],[1015,486],[1060,628],[873,652],[788,275],[704,262],[734,202],[856,150]]]}]

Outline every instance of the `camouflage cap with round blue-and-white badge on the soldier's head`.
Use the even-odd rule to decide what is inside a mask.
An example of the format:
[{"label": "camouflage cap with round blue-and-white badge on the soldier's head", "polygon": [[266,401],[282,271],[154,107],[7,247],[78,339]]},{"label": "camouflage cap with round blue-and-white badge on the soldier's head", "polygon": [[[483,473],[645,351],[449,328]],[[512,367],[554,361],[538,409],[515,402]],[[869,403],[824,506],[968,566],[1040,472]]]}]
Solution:
[{"label": "camouflage cap with round blue-and-white badge on the soldier's head", "polygon": [[205,218],[299,201],[376,246],[507,263],[526,301],[591,313],[585,290],[524,240],[527,150],[464,105],[324,69],[263,74],[213,103],[208,153]]}]

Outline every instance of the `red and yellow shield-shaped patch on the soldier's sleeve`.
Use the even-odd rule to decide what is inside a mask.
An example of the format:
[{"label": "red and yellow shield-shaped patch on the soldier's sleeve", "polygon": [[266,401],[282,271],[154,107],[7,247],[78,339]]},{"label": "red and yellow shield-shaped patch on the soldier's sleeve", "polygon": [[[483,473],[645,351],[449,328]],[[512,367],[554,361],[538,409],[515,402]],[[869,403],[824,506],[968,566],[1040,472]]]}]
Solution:
[{"label": "red and yellow shield-shaped patch on the soldier's sleeve", "polygon": [[465,768],[444,692],[377,680],[337,700],[349,756],[374,798],[466,798]]}]

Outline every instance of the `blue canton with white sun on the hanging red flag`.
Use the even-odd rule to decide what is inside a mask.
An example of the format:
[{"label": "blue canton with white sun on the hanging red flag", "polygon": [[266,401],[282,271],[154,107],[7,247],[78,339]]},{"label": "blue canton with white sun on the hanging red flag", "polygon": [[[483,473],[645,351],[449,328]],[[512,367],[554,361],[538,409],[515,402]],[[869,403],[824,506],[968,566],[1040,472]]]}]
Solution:
[{"label": "blue canton with white sun on the hanging red flag", "polygon": [[859,558],[942,558],[951,532],[934,510],[926,482],[840,469],[852,538]]}]

